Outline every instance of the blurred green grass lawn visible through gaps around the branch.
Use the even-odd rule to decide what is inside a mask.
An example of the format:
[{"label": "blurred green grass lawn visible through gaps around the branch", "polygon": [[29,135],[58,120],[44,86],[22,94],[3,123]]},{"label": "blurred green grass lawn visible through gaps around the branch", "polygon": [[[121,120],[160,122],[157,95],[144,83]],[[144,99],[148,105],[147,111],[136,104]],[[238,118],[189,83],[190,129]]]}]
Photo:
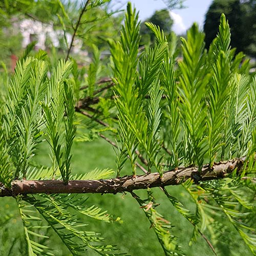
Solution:
[{"label": "blurred green grass lawn visible through gaps around the branch", "polygon": [[[41,164],[47,165],[50,163],[48,153],[49,152],[46,145],[42,145],[40,150],[38,150],[36,157],[37,160]],[[73,147],[72,167],[73,172],[77,173],[89,172],[96,167],[108,167],[115,169],[114,150],[111,145],[103,140],[96,140],[93,142],[76,142]],[[130,172],[131,170],[127,164],[124,173]],[[159,211],[168,221],[175,225],[171,232],[174,231],[174,234],[179,237],[178,241],[185,244],[182,250],[186,253],[186,255],[214,255],[201,237],[198,238],[198,241],[192,247],[187,245],[193,232],[193,226],[168,202],[159,188],[154,188],[153,191],[156,201],[160,203],[160,206],[158,207]],[[173,196],[182,198],[182,202],[187,208],[195,210],[193,208],[193,202],[181,186],[168,187],[168,191]],[[142,198],[146,197],[145,191],[138,191],[136,193]],[[143,210],[139,208],[138,203],[129,193],[125,195],[88,195],[88,197],[89,199],[87,201],[87,205],[99,206],[102,209],[108,210],[109,214],[115,215],[116,217],[119,216],[123,220],[122,224],[110,224],[81,216],[82,220],[89,224],[87,226],[88,231],[98,231],[105,238],[106,243],[118,245],[122,252],[127,252],[129,255],[164,255],[163,250],[157,241],[156,234],[154,233],[153,229],[150,228],[150,223],[146,219]],[[1,216],[6,214],[12,214],[14,216],[11,222],[6,225],[5,228],[0,228],[0,248],[2,246],[2,250],[4,250],[4,246],[6,246],[6,248],[10,246],[6,244],[3,245],[1,243],[1,239],[4,240],[3,236],[7,236],[10,244],[15,244],[17,248],[22,248],[25,241],[20,244],[15,240],[15,238],[19,235],[23,237],[22,221],[18,215],[15,200],[12,198],[1,198],[0,214]],[[51,232],[51,239],[47,241],[46,244],[54,249],[55,255],[71,255],[61,243],[60,239],[53,232]],[[241,243],[238,244],[236,251],[238,252],[237,255],[250,255],[245,246]],[[19,256],[25,254],[17,249],[13,255]],[[94,256],[98,254],[88,251],[88,255]],[[235,254],[228,254],[223,251],[222,255],[226,256]],[[3,254],[1,256],[9,256],[9,254]]]}]

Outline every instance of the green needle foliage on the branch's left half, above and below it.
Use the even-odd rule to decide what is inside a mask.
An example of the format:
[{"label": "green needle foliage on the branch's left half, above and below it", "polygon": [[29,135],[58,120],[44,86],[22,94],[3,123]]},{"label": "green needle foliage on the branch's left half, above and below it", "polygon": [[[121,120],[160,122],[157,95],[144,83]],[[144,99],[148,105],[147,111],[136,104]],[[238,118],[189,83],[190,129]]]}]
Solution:
[{"label": "green needle foliage on the branch's left half, above and below it", "polygon": [[[28,57],[17,62],[7,104],[3,105],[1,112],[0,181],[6,187],[10,187],[14,179],[21,178],[62,178],[65,182],[76,178],[71,175],[71,147],[76,131],[74,90],[69,80],[71,70],[72,62],[60,60],[49,79],[46,61]],[[51,148],[51,168],[39,167],[31,161],[43,138],[46,138]],[[109,169],[96,169],[77,178],[102,179],[112,174]],[[41,195],[17,197],[16,200],[24,224],[26,255],[54,255],[53,250],[42,244],[43,239],[48,236],[34,231],[36,226],[42,230],[51,227],[73,255],[83,255],[87,251],[85,247],[100,255],[116,255],[112,252],[116,250],[114,246],[92,244],[103,241],[98,232],[79,230],[87,224],[81,224],[67,210],[70,207],[84,216],[100,221],[120,221],[97,206],[80,207],[86,199],[70,195],[69,199],[66,196],[59,197],[58,201],[54,196]],[[48,222],[48,226],[31,223],[43,220]],[[81,243],[73,241],[76,238]]]}]

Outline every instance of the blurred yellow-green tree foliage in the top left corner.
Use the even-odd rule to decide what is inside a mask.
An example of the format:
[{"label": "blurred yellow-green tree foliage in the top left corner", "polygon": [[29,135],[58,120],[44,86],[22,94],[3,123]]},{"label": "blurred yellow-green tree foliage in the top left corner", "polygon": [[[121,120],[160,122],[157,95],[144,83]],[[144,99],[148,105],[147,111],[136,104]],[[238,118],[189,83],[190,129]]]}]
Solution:
[{"label": "blurred yellow-green tree foliage in the top left corner", "polygon": [[56,22],[61,6],[57,0],[13,0],[0,1],[0,10],[0,58],[9,66],[11,56],[20,55],[22,50],[23,35],[18,23],[28,18]]}]

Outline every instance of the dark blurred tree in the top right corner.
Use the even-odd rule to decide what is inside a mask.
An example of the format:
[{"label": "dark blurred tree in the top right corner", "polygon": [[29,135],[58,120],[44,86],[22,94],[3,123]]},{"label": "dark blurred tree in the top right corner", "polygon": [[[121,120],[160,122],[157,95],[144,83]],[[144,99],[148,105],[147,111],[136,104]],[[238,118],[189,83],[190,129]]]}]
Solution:
[{"label": "dark blurred tree in the top right corner", "polygon": [[210,5],[204,23],[205,44],[216,37],[220,16],[225,13],[231,31],[231,46],[237,52],[243,51],[256,56],[256,1],[255,0],[214,0]]}]

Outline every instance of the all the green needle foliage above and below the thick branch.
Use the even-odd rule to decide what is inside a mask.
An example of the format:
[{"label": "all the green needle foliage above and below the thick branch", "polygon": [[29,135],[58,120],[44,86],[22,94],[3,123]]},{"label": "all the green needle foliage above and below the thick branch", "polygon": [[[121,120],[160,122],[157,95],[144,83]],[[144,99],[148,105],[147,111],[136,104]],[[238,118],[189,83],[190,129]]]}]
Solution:
[{"label": "all the green needle foliage above and below the thick branch", "polygon": [[[88,9],[106,2],[88,1]],[[69,19],[65,6],[60,6]],[[111,70],[104,68],[104,74],[96,46],[92,63],[80,70],[71,58],[54,61],[57,64],[51,67],[45,52],[29,56],[30,45],[10,82],[6,72],[0,80],[1,88],[9,82],[0,100],[0,193],[9,188],[17,203],[26,241],[26,246],[20,246],[24,255],[55,255],[55,249],[48,246],[52,232],[70,255],[126,253],[89,228],[89,220],[122,223],[119,217],[109,215],[97,203],[87,205],[87,197],[68,194],[68,190],[67,194],[12,194],[15,180],[58,179],[68,187],[70,180],[90,182],[120,177],[125,172],[132,175],[130,182],[136,183],[139,168],[144,173],[157,172],[154,175],[162,181],[165,171],[175,175],[184,167],[198,169],[184,182],[177,175],[180,189],[194,207],[171,186],[160,188],[169,206],[165,212],[161,212],[160,194],[155,190],[147,188],[146,196],[131,191],[150,222],[148,227],[156,234],[161,255],[191,255],[174,226],[179,223],[163,217],[173,217],[174,213],[191,224],[189,245],[202,237],[212,254],[236,255],[237,244],[244,243],[246,253],[256,255],[256,77],[249,74],[248,61],[242,62],[244,55],[235,55],[231,49],[224,14],[209,51],[205,50],[204,34],[194,24],[186,39],[181,38],[182,56],[178,60],[175,36],[169,42],[159,27],[152,23],[146,26],[155,34],[156,44],[141,50],[138,13],[129,3],[120,40],[109,40]],[[108,72],[113,84],[99,85],[102,81],[98,79]],[[73,142],[95,137],[115,147],[117,168],[105,166],[79,174],[72,170]],[[47,143],[51,157],[48,167],[35,161],[39,146]],[[84,150],[84,154],[91,152]],[[223,177],[216,179],[214,167],[236,158],[243,163],[241,169],[230,165],[226,173],[223,170]],[[208,180],[200,180],[200,175],[207,175]],[[0,224],[7,227],[11,218],[0,215]],[[1,253],[3,250],[0,248]]]}]

